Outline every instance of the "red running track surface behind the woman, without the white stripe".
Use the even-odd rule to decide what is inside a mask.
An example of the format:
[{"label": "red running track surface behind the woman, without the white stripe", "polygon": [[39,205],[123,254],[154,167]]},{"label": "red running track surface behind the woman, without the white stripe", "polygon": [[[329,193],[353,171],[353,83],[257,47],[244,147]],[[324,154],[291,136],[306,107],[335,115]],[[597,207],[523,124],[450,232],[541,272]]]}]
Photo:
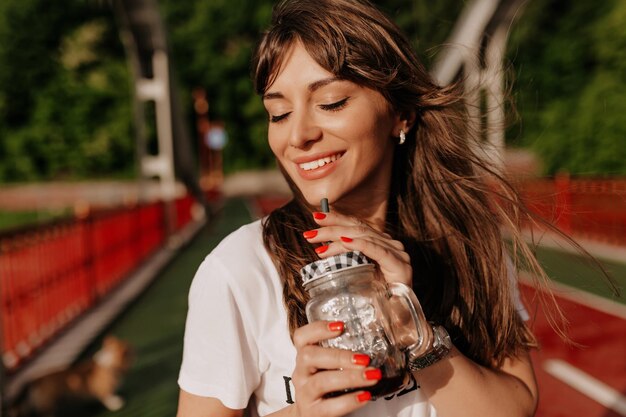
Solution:
[{"label": "red running track surface behind the woman, without the white stripe", "polygon": [[[258,198],[258,212],[267,214],[286,202],[284,197]],[[533,331],[540,347],[532,352],[539,383],[539,408],[536,417],[623,417],[546,372],[546,361],[561,360],[626,396],[626,314],[611,314],[588,302],[572,300],[577,290],[568,290],[557,302],[570,322],[569,338],[579,344],[567,344],[550,327],[539,308],[535,290],[521,286],[531,315]],[[555,290],[556,291],[556,290]],[[626,311],[626,307],[623,307]]]}]

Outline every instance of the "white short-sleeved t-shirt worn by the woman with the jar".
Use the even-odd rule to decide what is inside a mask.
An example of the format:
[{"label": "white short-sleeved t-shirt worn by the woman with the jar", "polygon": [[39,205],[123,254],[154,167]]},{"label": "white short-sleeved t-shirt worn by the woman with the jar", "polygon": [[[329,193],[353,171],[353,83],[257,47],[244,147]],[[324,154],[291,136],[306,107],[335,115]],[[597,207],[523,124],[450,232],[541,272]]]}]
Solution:
[{"label": "white short-sleeved t-shirt worn by the woman with the jar", "polygon": [[[283,285],[262,241],[261,221],[226,237],[200,265],[189,292],[178,384],[252,416],[278,411],[295,398],[296,349],[289,336]],[[371,401],[354,416],[434,417],[411,386]]]}]

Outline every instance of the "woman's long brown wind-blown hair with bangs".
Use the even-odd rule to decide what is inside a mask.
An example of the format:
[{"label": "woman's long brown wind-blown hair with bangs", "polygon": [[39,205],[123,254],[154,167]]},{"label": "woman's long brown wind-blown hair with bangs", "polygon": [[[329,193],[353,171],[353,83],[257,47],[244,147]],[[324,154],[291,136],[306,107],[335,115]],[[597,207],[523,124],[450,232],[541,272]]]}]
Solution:
[{"label": "woman's long brown wind-blown hair with bangs", "polygon": [[[518,232],[517,195],[473,152],[468,115],[457,87],[434,83],[398,27],[363,0],[287,0],[274,9],[253,60],[263,94],[286,52],[301,42],[324,69],[380,92],[400,114],[416,114],[394,154],[386,232],[403,241],[413,288],[427,317],[443,324],[455,345],[486,366],[535,345],[512,301],[501,226],[510,226],[514,253],[541,268]],[[285,172],[283,171],[285,175]],[[317,227],[312,210],[285,175],[294,198],[272,212],[263,239],[284,280],[291,332],[306,323],[307,294],[299,269],[317,260],[302,232]]]}]

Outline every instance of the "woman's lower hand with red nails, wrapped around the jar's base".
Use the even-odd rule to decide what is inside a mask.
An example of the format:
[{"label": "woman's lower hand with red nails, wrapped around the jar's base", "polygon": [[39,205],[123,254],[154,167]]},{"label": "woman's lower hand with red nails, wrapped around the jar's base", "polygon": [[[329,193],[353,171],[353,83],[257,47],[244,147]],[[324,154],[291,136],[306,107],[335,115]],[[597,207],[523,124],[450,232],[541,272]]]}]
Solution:
[{"label": "woman's lower hand with red nails, wrapped around the jar's base", "polygon": [[[297,356],[292,382],[296,390],[296,416],[343,416],[363,407],[371,399],[371,394],[362,388],[375,385],[382,374],[378,369],[367,368],[370,358],[349,350],[318,345],[342,332],[342,322],[327,321],[316,321],[294,332]],[[326,397],[329,393],[344,390],[354,391]]]}]

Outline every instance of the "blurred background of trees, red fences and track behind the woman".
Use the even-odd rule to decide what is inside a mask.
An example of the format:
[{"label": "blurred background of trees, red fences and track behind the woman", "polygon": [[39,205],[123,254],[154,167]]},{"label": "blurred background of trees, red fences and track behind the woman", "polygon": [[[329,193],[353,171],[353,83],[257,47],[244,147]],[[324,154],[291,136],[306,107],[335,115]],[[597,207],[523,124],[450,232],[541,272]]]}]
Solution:
[{"label": "blurred background of trees, red fences and track behind the woman", "polygon": [[[196,267],[289,196],[249,67],[273,3],[0,2],[2,415],[108,334],[133,351],[125,406],[86,401],[63,415],[175,414]],[[626,2],[375,3],[439,80],[452,68],[481,92],[475,109],[495,98],[507,111],[506,128],[486,134],[494,163],[599,262],[528,225],[577,344],[524,281],[538,415],[626,416],[626,307],[601,273],[626,284]]]}]

